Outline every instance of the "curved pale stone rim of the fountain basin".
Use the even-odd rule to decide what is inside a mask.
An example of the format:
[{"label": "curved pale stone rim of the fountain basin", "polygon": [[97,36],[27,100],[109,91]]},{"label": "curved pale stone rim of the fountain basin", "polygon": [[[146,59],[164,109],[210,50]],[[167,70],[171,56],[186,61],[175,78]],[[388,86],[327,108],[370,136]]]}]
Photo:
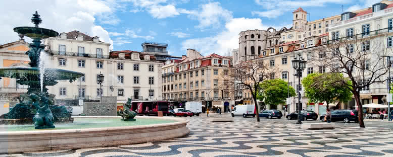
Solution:
[{"label": "curved pale stone rim of the fountain basin", "polygon": [[[74,116],[73,118],[118,118],[121,121],[120,116]],[[143,116],[135,118],[136,121],[154,119],[173,122],[85,129],[2,131],[0,132],[0,153],[137,144],[181,137],[190,131],[186,127],[189,120],[185,118]],[[135,121],[129,123],[133,122]]]}]

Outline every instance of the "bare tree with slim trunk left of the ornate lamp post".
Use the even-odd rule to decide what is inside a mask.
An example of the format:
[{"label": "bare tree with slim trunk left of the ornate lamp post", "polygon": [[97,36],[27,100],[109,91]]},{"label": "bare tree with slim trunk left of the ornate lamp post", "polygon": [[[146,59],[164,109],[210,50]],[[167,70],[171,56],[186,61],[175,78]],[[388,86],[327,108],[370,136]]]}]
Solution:
[{"label": "bare tree with slim trunk left of the ornate lamp post", "polygon": [[270,66],[269,61],[264,62],[257,59],[243,61],[237,64],[228,73],[222,74],[222,85],[224,88],[229,86],[237,87],[238,90],[243,92],[250,91],[253,96],[255,110],[257,112],[257,121],[259,122],[257,94],[263,90],[259,85],[263,82],[263,80],[272,78],[278,73],[278,68]]}]

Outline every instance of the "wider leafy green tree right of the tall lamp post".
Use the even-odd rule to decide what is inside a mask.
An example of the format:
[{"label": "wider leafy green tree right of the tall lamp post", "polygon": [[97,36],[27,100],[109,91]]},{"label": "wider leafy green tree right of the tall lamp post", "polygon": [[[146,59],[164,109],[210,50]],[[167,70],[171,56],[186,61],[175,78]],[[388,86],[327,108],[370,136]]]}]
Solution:
[{"label": "wider leafy green tree right of the tall lamp post", "polygon": [[310,101],[326,102],[329,108],[329,103],[333,101],[345,102],[352,99],[351,90],[340,82],[344,79],[341,73],[311,73],[303,78],[302,84]]}]

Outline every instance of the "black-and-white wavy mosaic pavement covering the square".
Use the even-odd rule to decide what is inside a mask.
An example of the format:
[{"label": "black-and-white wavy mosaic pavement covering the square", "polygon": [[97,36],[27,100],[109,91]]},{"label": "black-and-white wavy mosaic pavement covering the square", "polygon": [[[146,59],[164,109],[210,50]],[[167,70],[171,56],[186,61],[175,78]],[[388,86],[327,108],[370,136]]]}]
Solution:
[{"label": "black-and-white wavy mosaic pavement covering the square", "polygon": [[391,129],[340,124],[334,130],[302,130],[294,121],[261,119],[257,123],[254,118],[235,118],[233,123],[206,122],[209,118],[190,117],[187,127],[191,132],[182,138],[0,156],[393,156]]}]

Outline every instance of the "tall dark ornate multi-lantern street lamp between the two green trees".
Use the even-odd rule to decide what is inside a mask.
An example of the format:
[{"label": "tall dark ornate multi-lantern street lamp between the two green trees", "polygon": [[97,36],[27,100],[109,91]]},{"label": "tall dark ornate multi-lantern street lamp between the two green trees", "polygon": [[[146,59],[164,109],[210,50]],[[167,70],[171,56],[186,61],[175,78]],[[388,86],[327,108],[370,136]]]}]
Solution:
[{"label": "tall dark ornate multi-lantern street lamp between the two green trees", "polygon": [[307,61],[305,61],[304,60],[304,58],[302,57],[302,55],[299,53],[299,59],[297,59],[296,58],[296,56],[293,58],[293,60],[292,60],[292,66],[293,66],[293,68],[296,70],[296,75],[298,76],[298,78],[299,78],[299,86],[298,86],[298,96],[299,96],[299,103],[298,103],[298,122],[296,123],[296,124],[302,124],[302,121],[301,121],[301,119],[300,119],[300,116],[301,116],[301,111],[302,111],[302,106],[301,106],[301,102],[300,102],[300,99],[301,99],[301,94],[300,94],[300,86],[301,86],[301,84],[300,84],[300,75],[301,75],[301,72],[303,72],[303,70],[306,68],[306,64],[307,64]]}]

